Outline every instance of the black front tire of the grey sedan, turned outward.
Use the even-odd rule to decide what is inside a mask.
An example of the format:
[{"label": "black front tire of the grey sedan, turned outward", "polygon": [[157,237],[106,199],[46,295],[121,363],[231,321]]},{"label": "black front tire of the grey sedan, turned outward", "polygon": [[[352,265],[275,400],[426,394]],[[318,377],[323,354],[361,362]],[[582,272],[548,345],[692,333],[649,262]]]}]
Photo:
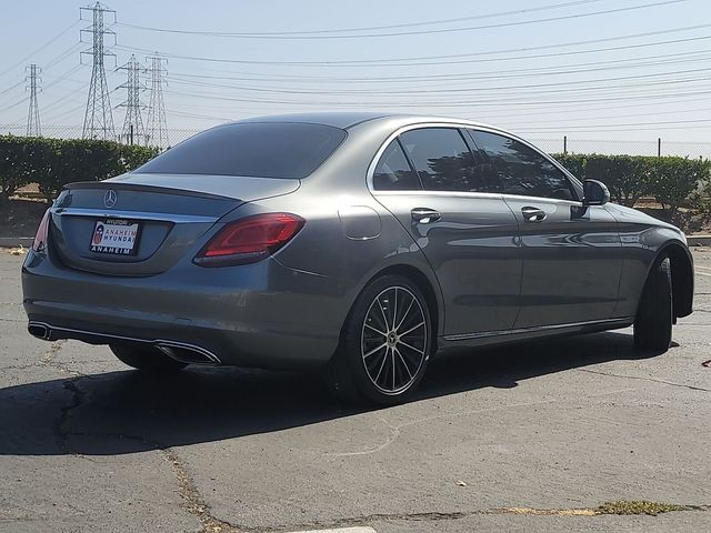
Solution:
[{"label": "black front tire of the grey sedan, turned outward", "polygon": [[634,320],[634,345],[645,352],[663,353],[671,344],[674,320],[671,265],[659,261],[649,273]]}]

